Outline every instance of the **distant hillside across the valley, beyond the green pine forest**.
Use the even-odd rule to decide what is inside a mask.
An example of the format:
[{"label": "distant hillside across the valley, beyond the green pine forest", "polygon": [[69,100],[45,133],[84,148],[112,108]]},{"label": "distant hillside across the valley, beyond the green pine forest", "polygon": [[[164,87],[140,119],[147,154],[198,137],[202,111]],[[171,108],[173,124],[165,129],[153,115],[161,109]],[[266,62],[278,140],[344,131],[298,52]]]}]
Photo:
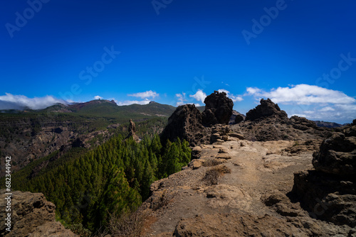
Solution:
[{"label": "distant hillside across the valley, beyond the green pine forest", "polygon": [[[114,101],[95,100],[0,113],[0,155],[11,156],[12,170],[17,171],[57,150],[73,146],[90,148],[115,133],[126,136],[130,118],[138,122],[138,136],[159,133],[174,109],[155,102],[117,106]],[[0,165],[0,177],[4,175],[4,167]]]}]

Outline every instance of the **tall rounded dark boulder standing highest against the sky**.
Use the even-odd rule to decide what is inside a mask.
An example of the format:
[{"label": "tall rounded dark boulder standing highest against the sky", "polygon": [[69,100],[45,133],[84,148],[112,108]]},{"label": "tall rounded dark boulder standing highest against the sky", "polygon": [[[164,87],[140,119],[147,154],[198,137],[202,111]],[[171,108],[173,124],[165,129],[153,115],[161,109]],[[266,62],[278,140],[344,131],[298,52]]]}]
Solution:
[{"label": "tall rounded dark boulder standing highest against the sky", "polygon": [[232,115],[234,102],[226,97],[225,92],[210,94],[204,99],[205,110],[202,114],[204,126],[212,126],[216,123],[228,124]]}]

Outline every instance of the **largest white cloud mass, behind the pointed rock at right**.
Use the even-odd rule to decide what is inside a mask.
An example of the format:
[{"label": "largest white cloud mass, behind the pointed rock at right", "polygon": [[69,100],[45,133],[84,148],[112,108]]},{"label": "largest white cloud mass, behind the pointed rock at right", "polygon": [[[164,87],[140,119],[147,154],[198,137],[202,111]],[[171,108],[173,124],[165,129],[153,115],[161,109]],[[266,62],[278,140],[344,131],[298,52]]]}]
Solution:
[{"label": "largest white cloud mass, behind the pointed rock at right", "polygon": [[271,89],[270,92],[248,87],[246,94],[256,99],[270,98],[275,103],[284,104],[281,109],[288,114],[305,116],[310,120],[345,123],[356,118],[356,99],[333,89],[297,84]]}]

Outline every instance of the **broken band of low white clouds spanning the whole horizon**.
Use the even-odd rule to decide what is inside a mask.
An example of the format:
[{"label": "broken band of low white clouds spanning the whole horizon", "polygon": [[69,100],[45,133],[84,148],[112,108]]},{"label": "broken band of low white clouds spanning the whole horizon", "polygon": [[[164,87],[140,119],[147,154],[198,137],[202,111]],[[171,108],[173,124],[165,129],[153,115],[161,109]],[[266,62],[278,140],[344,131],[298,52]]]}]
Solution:
[{"label": "broken band of low white clouds spanning the whole horizon", "polygon": [[[325,89],[309,84],[297,84],[290,87],[278,87],[266,91],[258,87],[247,87],[246,92],[237,95],[226,89],[219,89],[219,92],[225,92],[226,95],[236,102],[252,99],[255,104],[262,98],[270,98],[273,102],[280,104],[281,109],[285,110],[289,116],[303,116],[310,120],[323,121],[352,121],[356,117],[356,99],[347,94],[333,89]],[[152,90],[146,92],[137,92],[127,94],[128,97],[137,97],[141,100],[115,100],[117,105],[130,104],[149,104],[150,99],[159,99],[159,93]],[[204,104],[206,93],[203,89],[198,89],[195,94],[182,92],[175,94],[175,106],[182,104],[195,104],[201,106]],[[104,99],[97,95],[93,99]],[[44,109],[56,103],[69,104],[70,101],[56,99],[52,96],[28,98],[24,95],[13,95],[6,93],[0,96],[0,109]],[[201,103],[201,104],[200,104]],[[253,109],[253,106],[251,106]]]}]

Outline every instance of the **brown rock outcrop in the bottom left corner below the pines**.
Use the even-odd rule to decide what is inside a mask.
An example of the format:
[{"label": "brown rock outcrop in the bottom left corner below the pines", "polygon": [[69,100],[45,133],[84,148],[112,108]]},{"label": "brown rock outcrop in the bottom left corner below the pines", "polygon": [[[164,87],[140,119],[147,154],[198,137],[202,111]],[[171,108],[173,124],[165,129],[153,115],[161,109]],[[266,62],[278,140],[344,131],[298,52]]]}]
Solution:
[{"label": "brown rock outcrop in the bottom left corner below the pines", "polygon": [[[0,190],[0,218],[5,219],[6,202],[5,189]],[[11,231],[6,231],[7,226],[0,226],[0,236],[77,236],[70,230],[55,221],[56,206],[48,202],[41,193],[12,192],[11,199]]]}]

